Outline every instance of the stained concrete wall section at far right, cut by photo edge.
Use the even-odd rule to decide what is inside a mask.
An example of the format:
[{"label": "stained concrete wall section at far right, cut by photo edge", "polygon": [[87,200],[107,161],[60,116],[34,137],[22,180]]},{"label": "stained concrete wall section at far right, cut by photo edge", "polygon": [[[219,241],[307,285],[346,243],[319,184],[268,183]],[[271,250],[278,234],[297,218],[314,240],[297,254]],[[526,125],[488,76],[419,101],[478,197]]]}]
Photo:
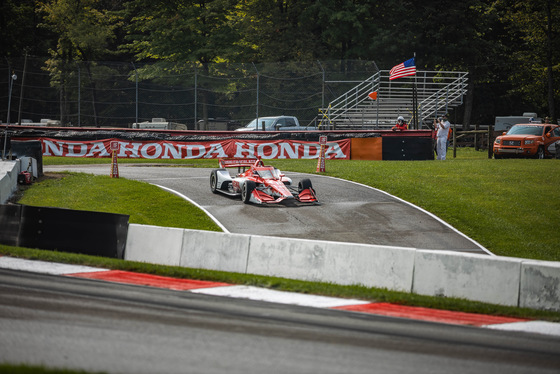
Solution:
[{"label": "stained concrete wall section at far right, cut by photo edge", "polygon": [[523,261],[519,306],[560,310],[560,263]]}]

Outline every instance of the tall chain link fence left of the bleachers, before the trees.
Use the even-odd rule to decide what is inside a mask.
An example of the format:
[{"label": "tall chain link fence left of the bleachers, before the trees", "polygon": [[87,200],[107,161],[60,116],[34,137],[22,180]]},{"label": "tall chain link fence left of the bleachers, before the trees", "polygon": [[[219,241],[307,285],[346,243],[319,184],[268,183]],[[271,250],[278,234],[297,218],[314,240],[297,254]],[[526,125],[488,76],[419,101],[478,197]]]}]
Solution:
[{"label": "tall chain link fence left of the bleachers, before the trees", "polygon": [[244,125],[285,114],[307,125],[319,108],[378,70],[359,60],[201,65],[5,58],[0,119],[6,122],[11,96],[12,124],[131,127],[164,118],[208,129],[211,120]]}]

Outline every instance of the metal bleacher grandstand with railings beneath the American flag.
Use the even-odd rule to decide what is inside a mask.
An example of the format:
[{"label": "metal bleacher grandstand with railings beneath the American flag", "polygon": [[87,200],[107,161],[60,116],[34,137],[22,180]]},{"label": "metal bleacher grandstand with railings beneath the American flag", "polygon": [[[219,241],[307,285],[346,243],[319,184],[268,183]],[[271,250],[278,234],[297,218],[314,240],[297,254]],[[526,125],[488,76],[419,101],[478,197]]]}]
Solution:
[{"label": "metal bleacher grandstand with railings beneath the American flag", "polygon": [[416,85],[418,128],[430,128],[436,116],[463,103],[467,75],[455,71],[417,71],[416,76],[391,81],[389,70],[380,70],[331,101],[327,108],[321,108],[320,127],[387,129],[394,126],[398,116],[403,116],[412,128]]}]

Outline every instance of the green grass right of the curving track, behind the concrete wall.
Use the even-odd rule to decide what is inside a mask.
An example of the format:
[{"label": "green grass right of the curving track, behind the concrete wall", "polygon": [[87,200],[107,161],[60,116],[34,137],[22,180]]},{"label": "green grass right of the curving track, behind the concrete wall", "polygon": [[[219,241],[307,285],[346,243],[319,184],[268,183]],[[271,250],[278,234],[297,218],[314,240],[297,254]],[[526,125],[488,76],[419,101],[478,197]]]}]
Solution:
[{"label": "green grass right of the curving track, behind the concrete wall", "polygon": [[328,163],[434,213],[502,256],[560,261],[559,160]]}]

